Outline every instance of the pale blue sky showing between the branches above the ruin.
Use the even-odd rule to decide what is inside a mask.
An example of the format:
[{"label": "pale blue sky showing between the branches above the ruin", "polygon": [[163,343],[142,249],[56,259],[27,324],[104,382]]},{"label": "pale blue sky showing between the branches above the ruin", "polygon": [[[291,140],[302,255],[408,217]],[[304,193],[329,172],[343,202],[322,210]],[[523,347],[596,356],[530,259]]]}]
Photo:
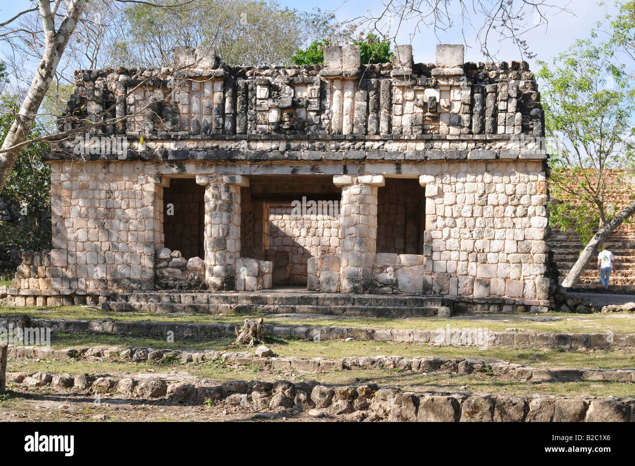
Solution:
[{"label": "pale blue sky showing between the branches above the ruin", "polygon": [[[355,0],[305,0],[302,2],[279,0],[279,3],[300,10],[311,11],[313,8],[319,7],[324,11],[333,11],[338,20],[358,17],[366,9],[376,12],[384,8],[382,1],[378,0],[365,0],[363,3]],[[549,17],[548,25],[540,26],[538,29],[526,33],[524,38],[528,41],[531,50],[537,53],[537,58],[540,60],[549,60],[549,58],[558,55],[559,52],[566,50],[575,39],[587,37],[596,22],[605,18],[606,11],[615,11],[610,0],[609,6],[599,6],[598,0],[551,0],[551,3],[567,6],[570,10],[573,10],[575,15],[561,12],[558,15]],[[0,22],[13,17],[15,13],[30,4],[32,3],[28,0],[0,0]],[[475,24],[474,27],[481,24],[481,21],[482,18],[478,16],[472,17],[472,22]],[[465,39],[460,31],[460,21],[457,21],[455,27],[449,31],[439,32],[438,37],[434,34],[434,31],[420,32],[412,41],[415,62],[434,62],[434,50],[437,43],[464,42],[467,45],[472,45],[471,48],[468,47],[465,51],[465,60],[483,61],[484,58],[476,43],[474,27],[467,25],[465,28]],[[409,34],[411,32],[412,28],[406,25],[399,36],[399,39],[401,39],[399,42],[409,43]],[[4,47],[6,45],[0,44],[0,50]],[[502,43],[500,51],[497,51],[497,58],[518,60],[520,55],[518,49],[512,43]],[[537,69],[535,60],[529,61],[532,69]]]}]

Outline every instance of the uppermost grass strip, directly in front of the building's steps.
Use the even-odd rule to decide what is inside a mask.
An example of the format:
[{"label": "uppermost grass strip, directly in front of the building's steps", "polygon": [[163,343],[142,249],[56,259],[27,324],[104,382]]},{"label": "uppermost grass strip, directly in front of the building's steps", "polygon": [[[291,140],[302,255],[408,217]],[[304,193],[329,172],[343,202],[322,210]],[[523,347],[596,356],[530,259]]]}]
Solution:
[{"label": "uppermost grass strip, directly in front of the building's steps", "polygon": [[[160,322],[224,322],[241,323],[246,318],[260,318],[260,314],[178,314],[150,312],[112,313],[103,312],[93,306],[60,306],[60,307],[15,307],[0,306],[0,317],[17,317],[28,314],[32,318],[41,319],[88,319],[101,320],[105,317],[122,321],[156,320]],[[486,327],[490,331],[508,328],[520,328],[537,332],[582,332],[597,333],[613,331],[616,333],[635,333],[635,314],[576,314],[565,312],[549,312],[545,314],[481,314],[460,315],[450,319],[366,319],[344,318],[333,319],[328,316],[300,315],[297,317],[279,317],[265,315],[265,323],[279,325],[311,325],[311,326],[345,326],[345,327],[377,327],[385,329],[445,329]]]}]

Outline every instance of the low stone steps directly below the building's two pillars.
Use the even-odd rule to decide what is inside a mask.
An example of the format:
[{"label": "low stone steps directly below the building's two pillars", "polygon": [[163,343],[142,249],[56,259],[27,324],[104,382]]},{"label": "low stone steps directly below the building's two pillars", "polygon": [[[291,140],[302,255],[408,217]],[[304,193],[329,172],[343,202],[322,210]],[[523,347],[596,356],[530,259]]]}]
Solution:
[{"label": "low stone steps directly below the building's two pillars", "polygon": [[318,314],[350,317],[450,317],[452,300],[432,296],[316,292],[133,292],[102,304],[106,312]]}]

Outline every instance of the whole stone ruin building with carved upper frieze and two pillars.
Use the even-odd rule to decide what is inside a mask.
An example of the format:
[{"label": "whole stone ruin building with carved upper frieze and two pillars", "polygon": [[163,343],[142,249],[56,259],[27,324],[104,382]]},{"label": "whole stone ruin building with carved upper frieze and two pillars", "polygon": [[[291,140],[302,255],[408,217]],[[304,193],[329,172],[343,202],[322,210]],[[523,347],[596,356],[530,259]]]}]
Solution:
[{"label": "whole stone ruin building with carved upper frieze and two pillars", "polygon": [[181,48],[174,67],[75,77],[61,129],[116,121],[48,154],[53,249],[25,254],[5,302],[211,306],[299,285],[325,304],[548,309],[526,62],[438,45],[436,64],[396,46],[364,65],[333,46],[324,65],[231,67]]}]

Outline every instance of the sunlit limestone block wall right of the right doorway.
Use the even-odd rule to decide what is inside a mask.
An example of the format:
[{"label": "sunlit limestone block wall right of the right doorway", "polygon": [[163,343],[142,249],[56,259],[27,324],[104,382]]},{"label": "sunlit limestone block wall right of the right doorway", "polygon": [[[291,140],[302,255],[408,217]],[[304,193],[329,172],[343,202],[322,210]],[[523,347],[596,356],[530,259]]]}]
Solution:
[{"label": "sunlit limestone block wall right of the right doorway", "polygon": [[[547,299],[547,182],[539,161],[425,167],[436,294]],[[429,233],[429,236],[428,236]]]}]

